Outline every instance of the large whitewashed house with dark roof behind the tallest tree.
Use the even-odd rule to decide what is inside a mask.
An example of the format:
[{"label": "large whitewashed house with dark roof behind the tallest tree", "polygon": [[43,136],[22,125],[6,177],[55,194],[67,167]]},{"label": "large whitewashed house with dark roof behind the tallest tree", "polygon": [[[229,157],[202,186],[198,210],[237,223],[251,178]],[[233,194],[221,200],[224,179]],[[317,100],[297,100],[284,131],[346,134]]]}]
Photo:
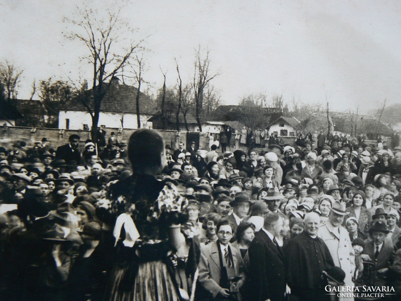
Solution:
[{"label": "large whitewashed house with dark roof behind the tallest tree", "polygon": [[[137,88],[119,84],[118,79],[113,79],[111,85],[101,103],[99,126],[138,128],[136,114]],[[141,92],[139,96],[141,128],[152,128],[152,122],[149,122],[148,119],[156,111],[156,102]],[[60,129],[90,129],[91,125],[91,116],[82,103],[68,103],[60,109]]]}]

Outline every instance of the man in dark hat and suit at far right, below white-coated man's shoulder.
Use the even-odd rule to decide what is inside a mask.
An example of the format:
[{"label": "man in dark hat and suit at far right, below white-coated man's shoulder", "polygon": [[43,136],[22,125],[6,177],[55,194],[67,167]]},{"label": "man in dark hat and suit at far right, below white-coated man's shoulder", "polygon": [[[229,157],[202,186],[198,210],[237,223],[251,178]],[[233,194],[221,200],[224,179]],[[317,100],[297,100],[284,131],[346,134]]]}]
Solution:
[{"label": "man in dark hat and suit at far right, below white-coated man's shoulder", "polygon": [[387,225],[383,221],[377,221],[369,229],[369,234],[373,240],[365,240],[365,248],[360,257],[363,261],[375,261],[376,273],[374,285],[386,285],[386,275],[393,246],[386,241],[388,234]]}]

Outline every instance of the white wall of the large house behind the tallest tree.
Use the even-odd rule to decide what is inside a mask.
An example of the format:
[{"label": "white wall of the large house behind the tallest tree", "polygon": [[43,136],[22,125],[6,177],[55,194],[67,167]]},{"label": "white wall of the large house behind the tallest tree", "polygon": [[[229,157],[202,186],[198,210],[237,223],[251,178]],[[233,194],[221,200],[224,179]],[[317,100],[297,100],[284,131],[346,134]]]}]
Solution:
[{"label": "white wall of the large house behind the tallest tree", "polygon": [[[148,122],[147,120],[150,118],[150,115],[141,115],[141,127],[152,128],[152,122]],[[69,119],[69,129],[83,129],[84,124],[91,127],[92,118],[89,113],[82,111],[60,111],[59,112],[59,128],[67,129],[66,119]],[[121,126],[121,119],[123,123]],[[114,127],[114,128],[130,128],[136,129],[137,120],[136,114],[122,114],[122,113],[112,113],[112,112],[100,112],[99,116],[99,125],[105,125],[105,127]]]}]

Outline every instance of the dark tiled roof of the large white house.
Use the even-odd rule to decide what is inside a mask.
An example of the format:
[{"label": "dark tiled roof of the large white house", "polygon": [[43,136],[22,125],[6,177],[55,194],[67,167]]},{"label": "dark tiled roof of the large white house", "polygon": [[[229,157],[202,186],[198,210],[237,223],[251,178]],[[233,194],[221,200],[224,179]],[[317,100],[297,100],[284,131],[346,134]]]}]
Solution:
[{"label": "dark tiled roof of the large white house", "polygon": [[[138,89],[134,86],[112,84],[109,91],[104,96],[100,110],[102,112],[117,112],[136,114],[136,93]],[[91,106],[92,107],[92,106]],[[86,111],[82,103],[70,102],[63,105],[61,110]],[[139,94],[139,113],[153,115],[157,111],[156,102],[140,92]]]}]

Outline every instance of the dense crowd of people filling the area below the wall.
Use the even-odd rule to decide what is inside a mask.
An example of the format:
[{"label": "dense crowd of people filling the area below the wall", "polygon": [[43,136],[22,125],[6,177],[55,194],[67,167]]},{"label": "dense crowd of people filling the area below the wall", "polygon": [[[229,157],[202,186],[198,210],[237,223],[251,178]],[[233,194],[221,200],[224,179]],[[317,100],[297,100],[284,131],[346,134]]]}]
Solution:
[{"label": "dense crowd of people filling the area below the wall", "polygon": [[223,152],[140,129],[128,145],[0,146],[0,295],[317,301],[389,285],[398,300],[401,147],[332,141]]}]

